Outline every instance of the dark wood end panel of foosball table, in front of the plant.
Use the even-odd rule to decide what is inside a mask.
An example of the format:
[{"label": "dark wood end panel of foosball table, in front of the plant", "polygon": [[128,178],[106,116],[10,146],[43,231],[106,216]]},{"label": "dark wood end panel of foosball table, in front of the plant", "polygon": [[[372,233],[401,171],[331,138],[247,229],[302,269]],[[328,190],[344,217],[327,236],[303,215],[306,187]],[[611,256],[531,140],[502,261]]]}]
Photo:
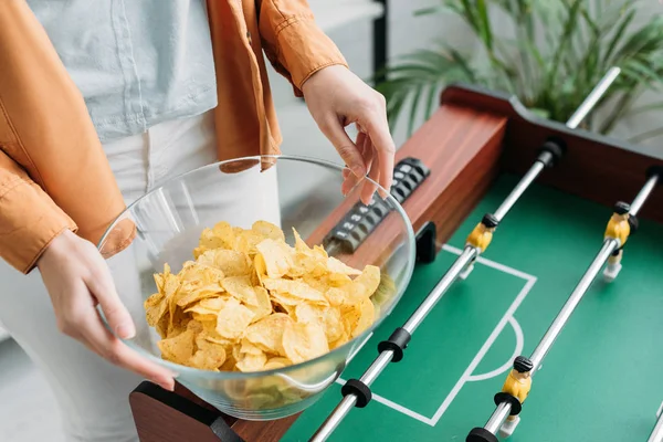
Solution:
[{"label": "dark wood end panel of foosball table, in front of the plant", "polygon": [[[453,86],[444,91],[441,103],[508,118],[501,160],[504,171],[524,173],[546,139],[562,139],[567,154],[558,166],[545,170],[538,182],[607,207],[618,200],[630,202],[646,181],[648,168],[663,166],[663,160],[636,152],[636,147],[625,141],[537,118],[515,98],[503,94]],[[639,217],[663,222],[663,188],[652,193]]]}]

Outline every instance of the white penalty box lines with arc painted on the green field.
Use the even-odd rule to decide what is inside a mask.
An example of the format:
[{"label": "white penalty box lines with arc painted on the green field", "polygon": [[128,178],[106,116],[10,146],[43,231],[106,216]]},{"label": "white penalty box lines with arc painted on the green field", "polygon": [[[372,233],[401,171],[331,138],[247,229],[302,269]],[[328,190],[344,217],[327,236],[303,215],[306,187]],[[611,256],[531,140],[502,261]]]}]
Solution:
[{"label": "white penalty box lines with arc painted on the green field", "polygon": [[[463,252],[461,249],[457,249],[457,248],[454,248],[454,246],[448,245],[448,244],[443,244],[442,250],[444,250],[445,252],[455,254],[455,255],[460,255]],[[481,349],[478,350],[478,352],[476,354],[474,359],[472,359],[472,362],[470,362],[470,365],[467,366],[467,368],[465,369],[465,371],[463,372],[463,375],[461,376],[459,381],[451,389],[451,391],[449,392],[446,398],[444,398],[444,401],[442,402],[442,404],[438,408],[438,410],[435,411],[435,413],[433,414],[432,418],[428,418],[421,413],[410,410],[407,407],[396,403],[382,396],[373,393],[372,399],[376,402],[382,403],[383,406],[389,407],[390,409],[398,411],[402,414],[406,414],[412,419],[415,419],[422,423],[425,423],[431,427],[435,427],[435,424],[440,421],[440,419],[442,419],[442,415],[444,415],[444,412],[446,412],[446,410],[449,409],[449,407],[451,406],[451,403],[453,402],[453,400],[455,399],[455,397],[459,394],[459,392],[462,390],[463,386],[466,382],[480,381],[480,380],[485,380],[485,379],[490,379],[490,378],[499,376],[501,373],[503,373],[511,367],[513,359],[520,354],[520,351],[523,350],[523,347],[524,347],[525,339],[523,336],[523,330],[520,328],[520,325],[514,317],[514,314],[515,314],[516,309],[520,306],[523,301],[525,301],[525,298],[527,297],[529,292],[532,291],[532,287],[536,283],[537,278],[536,278],[536,276],[533,276],[525,272],[520,272],[519,270],[509,267],[507,265],[497,263],[495,261],[486,260],[483,256],[478,256],[476,259],[476,262],[481,263],[483,265],[486,265],[488,267],[495,269],[499,272],[507,273],[509,275],[525,280],[526,283],[523,286],[523,288],[520,290],[520,292],[518,293],[518,295],[516,296],[516,298],[514,299],[514,302],[512,303],[512,305],[508,307],[508,309],[506,311],[506,313],[504,314],[502,319],[499,319],[499,323],[497,323],[497,325],[495,326],[495,328],[493,329],[493,332],[491,333],[491,335],[488,336],[486,341],[483,344],[483,346],[481,347]],[[512,355],[512,358],[509,358],[502,367],[499,367],[495,370],[492,370],[487,373],[473,375],[474,370],[476,369],[478,364],[483,360],[484,356],[488,352],[488,350],[491,349],[491,347],[493,346],[493,344],[495,343],[495,340],[497,339],[499,334],[504,330],[504,327],[506,326],[506,324],[509,324],[513,327],[514,333],[516,335],[516,348],[515,348],[514,355]],[[372,336],[372,333],[369,334],[366,337],[366,339],[364,339],[364,341],[357,347],[357,350],[350,355],[350,357],[348,358],[348,365],[350,364],[352,358],[359,352],[359,350],[361,350],[361,348],[364,348],[364,346],[366,345],[366,343],[368,343],[368,340],[371,338],[371,336]],[[346,383],[346,380],[343,378],[338,378],[336,380],[336,383],[339,383],[343,386]]]}]

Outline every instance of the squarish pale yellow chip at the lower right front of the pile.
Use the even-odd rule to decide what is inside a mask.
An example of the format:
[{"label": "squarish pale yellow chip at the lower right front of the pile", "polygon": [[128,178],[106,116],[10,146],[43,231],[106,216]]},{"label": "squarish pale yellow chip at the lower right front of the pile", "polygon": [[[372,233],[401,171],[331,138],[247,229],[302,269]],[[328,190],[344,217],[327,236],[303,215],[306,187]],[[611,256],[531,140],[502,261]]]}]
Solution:
[{"label": "squarish pale yellow chip at the lower right front of the pile", "polygon": [[283,332],[285,356],[294,364],[317,358],[329,351],[323,326],[317,323],[288,323]]}]

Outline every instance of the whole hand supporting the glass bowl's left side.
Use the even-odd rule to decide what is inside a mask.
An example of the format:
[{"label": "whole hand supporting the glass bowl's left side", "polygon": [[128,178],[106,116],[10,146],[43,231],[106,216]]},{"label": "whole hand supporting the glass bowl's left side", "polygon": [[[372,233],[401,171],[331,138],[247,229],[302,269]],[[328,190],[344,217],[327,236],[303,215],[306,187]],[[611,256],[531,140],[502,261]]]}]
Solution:
[{"label": "whole hand supporting the glass bowl's left side", "polygon": [[96,311],[101,305],[117,336],[131,338],[136,327],[122,303],[106,261],[91,242],[65,230],[39,259],[39,267],[53,303],[57,327],[112,364],[134,371],[167,390],[172,373],[151,362],[113,335]]}]

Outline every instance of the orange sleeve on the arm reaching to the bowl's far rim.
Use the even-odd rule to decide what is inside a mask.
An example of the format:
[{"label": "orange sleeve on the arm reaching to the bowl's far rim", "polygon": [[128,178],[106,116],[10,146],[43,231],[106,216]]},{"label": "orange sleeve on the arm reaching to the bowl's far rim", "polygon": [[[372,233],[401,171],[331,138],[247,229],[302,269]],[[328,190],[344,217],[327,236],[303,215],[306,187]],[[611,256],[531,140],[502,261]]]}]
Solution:
[{"label": "orange sleeve on the arm reaching to the bowl's far rim", "polygon": [[306,0],[259,1],[259,27],[265,55],[302,96],[302,85],[317,71],[347,62],[316,24]]}]

